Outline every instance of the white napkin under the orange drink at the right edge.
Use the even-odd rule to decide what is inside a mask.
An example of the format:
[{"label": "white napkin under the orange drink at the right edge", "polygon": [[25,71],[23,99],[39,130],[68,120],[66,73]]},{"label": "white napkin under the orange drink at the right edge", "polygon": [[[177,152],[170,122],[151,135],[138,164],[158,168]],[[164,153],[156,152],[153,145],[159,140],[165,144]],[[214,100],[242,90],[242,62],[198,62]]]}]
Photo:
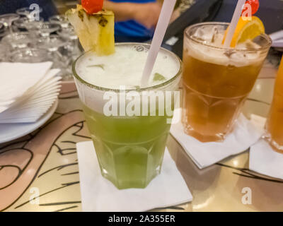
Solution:
[{"label": "white napkin under the orange drink at the right edge", "polygon": [[249,169],[283,179],[283,154],[275,152],[265,140],[260,139],[250,147]]}]

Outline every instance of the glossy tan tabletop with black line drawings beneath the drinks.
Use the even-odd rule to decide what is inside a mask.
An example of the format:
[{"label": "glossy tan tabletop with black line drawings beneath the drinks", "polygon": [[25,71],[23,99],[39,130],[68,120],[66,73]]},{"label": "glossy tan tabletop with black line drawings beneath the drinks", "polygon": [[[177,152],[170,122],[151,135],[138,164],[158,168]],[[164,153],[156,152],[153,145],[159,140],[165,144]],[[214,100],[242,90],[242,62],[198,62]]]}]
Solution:
[{"label": "glossy tan tabletop with black line drawings beneath the drinks", "polygon": [[[266,61],[243,113],[266,117],[276,65]],[[81,211],[76,142],[90,140],[74,83],[64,83],[53,117],[28,136],[0,144],[0,210]],[[248,169],[249,151],[198,169],[172,136],[168,149],[193,201],[162,211],[282,211],[283,180]],[[8,177],[7,177],[8,176]],[[2,179],[1,179],[2,178]],[[243,188],[252,204],[243,204]],[[39,197],[39,199],[37,198]],[[37,198],[37,202],[33,202]]]}]

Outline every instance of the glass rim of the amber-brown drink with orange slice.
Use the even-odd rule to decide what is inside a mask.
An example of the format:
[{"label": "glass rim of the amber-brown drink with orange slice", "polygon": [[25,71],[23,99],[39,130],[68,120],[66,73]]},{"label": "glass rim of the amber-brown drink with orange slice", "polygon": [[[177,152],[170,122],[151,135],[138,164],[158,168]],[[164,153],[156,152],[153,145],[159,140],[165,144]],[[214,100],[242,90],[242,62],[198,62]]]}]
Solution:
[{"label": "glass rim of the amber-brown drink with orange slice", "polygon": [[213,49],[218,49],[218,50],[222,50],[222,51],[225,51],[225,50],[235,50],[235,51],[238,51],[238,52],[260,52],[260,51],[263,51],[263,50],[266,50],[266,49],[269,49],[272,45],[272,40],[270,38],[269,35],[263,33],[259,36],[261,37],[264,37],[265,40],[267,40],[267,44],[264,46],[264,47],[260,47],[259,49],[236,49],[236,48],[233,48],[233,47],[216,47],[216,46],[213,46],[212,44],[207,44],[207,43],[204,43],[200,40],[197,40],[196,38],[193,38],[192,36],[190,36],[189,34],[187,34],[187,32],[189,30],[191,30],[192,28],[196,28],[196,27],[199,27],[201,25],[229,25],[230,23],[225,23],[225,22],[203,22],[203,23],[195,23],[193,25],[190,25],[189,27],[185,28],[184,30],[184,34],[185,34],[185,37],[192,41],[192,42],[195,42],[197,44],[202,44],[203,46],[205,47],[209,47],[209,48],[213,48]]}]

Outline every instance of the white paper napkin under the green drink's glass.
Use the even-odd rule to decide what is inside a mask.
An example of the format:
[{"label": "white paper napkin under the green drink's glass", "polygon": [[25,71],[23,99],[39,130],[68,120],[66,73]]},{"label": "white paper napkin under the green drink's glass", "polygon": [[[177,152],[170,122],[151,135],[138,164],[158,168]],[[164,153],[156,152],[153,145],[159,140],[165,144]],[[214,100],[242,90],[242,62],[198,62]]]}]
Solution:
[{"label": "white paper napkin under the green drink's glass", "polygon": [[161,174],[146,189],[117,189],[101,176],[92,141],[76,144],[83,211],[145,211],[192,201],[192,194],[172,160],[164,154]]}]

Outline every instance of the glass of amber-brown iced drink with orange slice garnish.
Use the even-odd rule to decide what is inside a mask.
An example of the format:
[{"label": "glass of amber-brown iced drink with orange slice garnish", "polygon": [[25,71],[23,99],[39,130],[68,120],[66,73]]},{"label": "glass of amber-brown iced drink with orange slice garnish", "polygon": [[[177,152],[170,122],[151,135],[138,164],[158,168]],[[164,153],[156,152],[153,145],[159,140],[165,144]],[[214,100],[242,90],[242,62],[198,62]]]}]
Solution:
[{"label": "glass of amber-brown iced drink with orange slice garnish", "polygon": [[271,40],[225,49],[227,23],[200,23],[185,30],[183,116],[185,132],[202,142],[224,141],[252,90]]}]

